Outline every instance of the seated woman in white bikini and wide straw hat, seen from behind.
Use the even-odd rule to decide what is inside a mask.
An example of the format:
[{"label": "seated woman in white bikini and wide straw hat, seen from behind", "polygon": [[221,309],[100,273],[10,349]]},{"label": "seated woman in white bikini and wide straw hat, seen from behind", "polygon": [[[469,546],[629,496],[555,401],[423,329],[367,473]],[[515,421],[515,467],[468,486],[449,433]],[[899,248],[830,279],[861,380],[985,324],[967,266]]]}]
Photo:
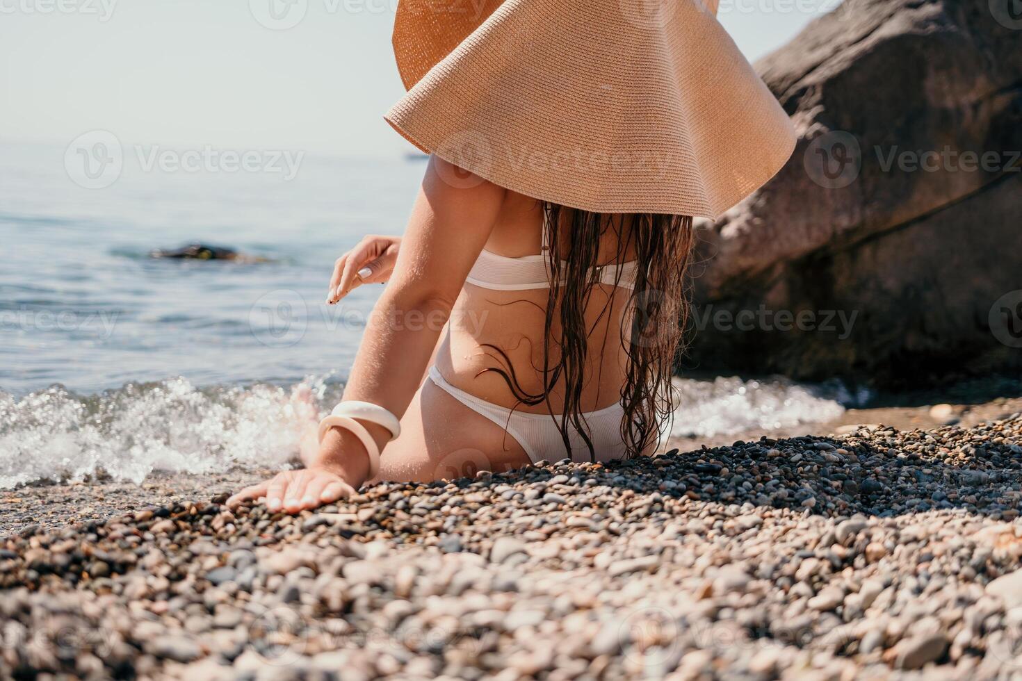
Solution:
[{"label": "seated woman in white bikini and wide straw hat, seen from behind", "polygon": [[638,0],[635,15],[629,0],[447,4],[464,11],[398,9],[410,91],[386,118],[431,158],[404,238],[336,262],[328,303],[388,282],[343,400],[305,469],[232,503],[297,513],[466,463],[650,453],[671,412],[692,217],[791,153],[787,115],[696,0],[655,16]]}]

